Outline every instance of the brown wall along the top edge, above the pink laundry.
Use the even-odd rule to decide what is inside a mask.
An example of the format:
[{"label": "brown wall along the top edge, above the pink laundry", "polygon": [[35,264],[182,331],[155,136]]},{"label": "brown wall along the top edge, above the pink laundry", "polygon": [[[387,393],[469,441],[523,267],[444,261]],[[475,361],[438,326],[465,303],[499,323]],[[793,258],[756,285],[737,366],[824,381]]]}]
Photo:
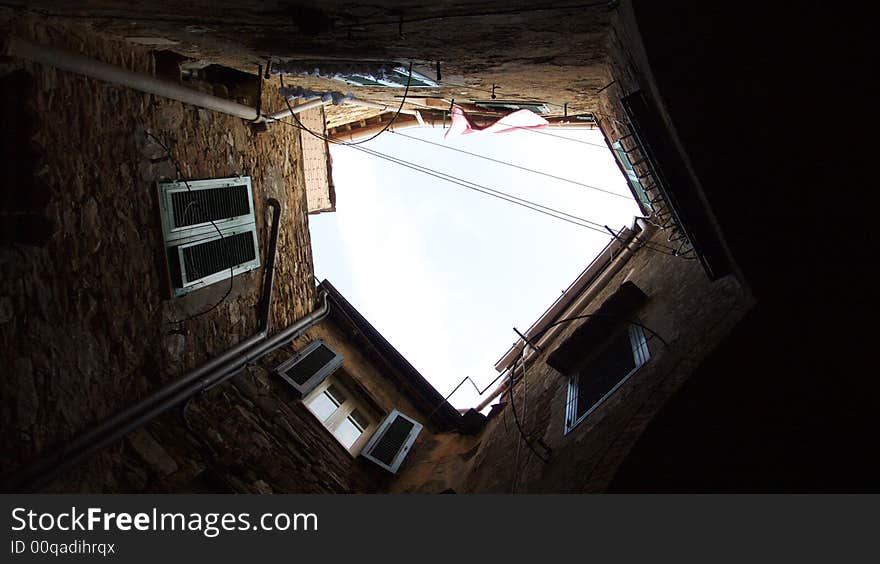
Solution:
[{"label": "brown wall along the top edge, above the pink laundry", "polygon": [[[15,4],[15,2],[13,2]],[[197,60],[254,72],[268,58],[391,60],[408,63],[440,87],[411,96],[488,100],[543,100],[556,115],[588,112],[609,82],[604,38],[613,17],[606,2],[574,7],[525,0],[459,2],[378,1],[240,3],[160,1],[147,4],[30,1],[23,9],[58,21],[87,22],[120,39],[161,45]],[[354,92],[396,106],[400,88],[372,88],[315,77],[288,85]],[[273,86],[278,86],[277,77]],[[336,108],[328,111],[334,121]],[[343,110],[348,112],[349,110]],[[363,119],[374,111],[358,111]]]}]

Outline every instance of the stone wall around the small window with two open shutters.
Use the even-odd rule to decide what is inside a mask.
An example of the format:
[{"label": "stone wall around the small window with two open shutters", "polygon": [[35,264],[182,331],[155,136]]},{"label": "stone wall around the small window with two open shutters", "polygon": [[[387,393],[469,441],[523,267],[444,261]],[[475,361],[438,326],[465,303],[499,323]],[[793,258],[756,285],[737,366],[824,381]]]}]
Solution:
[{"label": "stone wall around the small window with two open shutters", "polygon": [[[380,411],[393,409],[425,424],[401,471],[430,452],[434,428],[389,378],[385,366],[344,323],[332,316],[288,346],[260,359],[228,382],[192,398],[125,448],[143,466],[128,471],[139,491],[253,493],[375,493],[395,477],[352,456],[304,406],[274,369],[297,350],[324,340],[343,357],[335,377],[350,378]],[[349,386],[351,388],[351,386]]]}]

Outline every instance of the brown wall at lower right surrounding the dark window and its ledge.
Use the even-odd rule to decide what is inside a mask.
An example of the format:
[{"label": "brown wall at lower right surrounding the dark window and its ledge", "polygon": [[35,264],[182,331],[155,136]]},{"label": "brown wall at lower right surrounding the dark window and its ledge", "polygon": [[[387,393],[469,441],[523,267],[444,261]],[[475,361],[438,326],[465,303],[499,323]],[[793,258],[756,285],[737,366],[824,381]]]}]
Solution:
[{"label": "brown wall at lower right surrounding the dark window and its ledge", "polygon": [[[652,241],[664,239],[657,232]],[[485,430],[472,441],[456,436],[435,439],[436,448],[426,457],[425,467],[454,469],[452,479],[443,480],[438,491],[446,487],[459,493],[602,491],[647,422],[752,305],[734,278],[709,282],[698,261],[641,248],[582,310],[567,311],[565,317],[595,311],[625,280],[648,296],[636,319],[662,337],[647,334],[650,360],[565,434],[568,381],[546,364],[547,355],[583,320],[565,325],[542,345],[544,352],[528,362],[513,394],[526,435],[533,443],[540,440],[550,447],[548,461],[542,462],[523,443],[510,395],[505,394]],[[544,455],[540,446],[536,449]],[[396,487],[417,489],[423,478],[404,476],[408,483]]]}]

